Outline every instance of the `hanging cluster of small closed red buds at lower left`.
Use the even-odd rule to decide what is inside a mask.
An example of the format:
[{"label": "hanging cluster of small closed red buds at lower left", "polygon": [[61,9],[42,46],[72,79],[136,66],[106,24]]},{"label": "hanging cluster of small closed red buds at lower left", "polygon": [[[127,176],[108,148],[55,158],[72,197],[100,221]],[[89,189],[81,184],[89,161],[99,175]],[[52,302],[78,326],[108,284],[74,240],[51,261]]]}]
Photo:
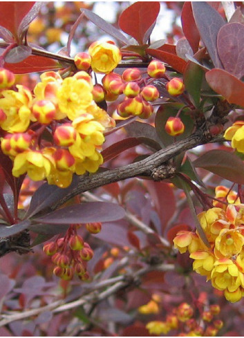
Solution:
[{"label": "hanging cluster of small closed red buds at lower left", "polygon": [[[84,242],[82,236],[77,234],[79,226],[71,225],[64,237],[44,245],[45,254],[52,256],[53,263],[57,265],[53,273],[66,281],[73,279],[74,274],[82,281],[90,278],[86,263],[93,258],[93,250]],[[101,223],[89,223],[86,229],[92,234],[97,234],[101,229]]]}]

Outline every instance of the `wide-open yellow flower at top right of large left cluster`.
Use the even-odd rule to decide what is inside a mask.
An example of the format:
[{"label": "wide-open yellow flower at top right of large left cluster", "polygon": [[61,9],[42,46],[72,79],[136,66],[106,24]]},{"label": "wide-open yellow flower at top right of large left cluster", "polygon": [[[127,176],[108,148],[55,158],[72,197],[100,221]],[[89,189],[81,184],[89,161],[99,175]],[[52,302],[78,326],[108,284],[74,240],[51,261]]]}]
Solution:
[{"label": "wide-open yellow flower at top right of large left cluster", "polygon": [[58,106],[70,120],[75,120],[93,101],[91,86],[85,79],[66,77],[57,89]]}]

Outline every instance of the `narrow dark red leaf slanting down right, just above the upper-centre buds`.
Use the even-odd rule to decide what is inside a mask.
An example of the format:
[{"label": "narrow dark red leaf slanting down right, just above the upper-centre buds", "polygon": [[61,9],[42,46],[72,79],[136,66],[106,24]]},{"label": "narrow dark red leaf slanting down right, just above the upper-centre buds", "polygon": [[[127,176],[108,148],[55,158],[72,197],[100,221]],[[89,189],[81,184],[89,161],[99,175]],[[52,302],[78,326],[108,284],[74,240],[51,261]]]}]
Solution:
[{"label": "narrow dark red leaf slanting down right, just above the upper-centre buds", "polygon": [[[163,47],[163,46],[162,46]],[[156,59],[159,59],[162,62],[166,62],[174,68],[179,73],[184,73],[185,67],[187,66],[187,62],[185,60],[181,59],[177,55],[165,52],[163,50],[159,49],[151,49],[147,48],[146,50],[147,54],[156,57]]]}]

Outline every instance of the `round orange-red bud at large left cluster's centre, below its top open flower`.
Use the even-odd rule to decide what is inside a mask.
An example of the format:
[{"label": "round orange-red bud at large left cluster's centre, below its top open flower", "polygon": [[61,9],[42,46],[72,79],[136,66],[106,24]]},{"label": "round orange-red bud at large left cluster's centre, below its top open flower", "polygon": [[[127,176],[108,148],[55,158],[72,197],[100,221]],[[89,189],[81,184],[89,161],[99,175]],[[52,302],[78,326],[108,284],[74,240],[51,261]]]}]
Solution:
[{"label": "round orange-red bud at large left cluster's centre, below its top open flower", "polygon": [[62,124],[57,126],[53,134],[55,144],[61,147],[71,147],[77,138],[77,131],[71,124]]}]

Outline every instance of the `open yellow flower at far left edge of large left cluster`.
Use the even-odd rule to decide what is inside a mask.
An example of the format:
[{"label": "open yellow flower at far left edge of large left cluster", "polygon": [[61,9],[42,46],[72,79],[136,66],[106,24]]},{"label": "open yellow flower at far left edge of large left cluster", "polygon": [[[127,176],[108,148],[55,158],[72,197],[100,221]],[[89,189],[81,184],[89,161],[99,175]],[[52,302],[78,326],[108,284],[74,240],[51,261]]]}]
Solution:
[{"label": "open yellow flower at far left edge of large left cluster", "polygon": [[17,84],[17,89],[1,92],[0,106],[6,119],[0,126],[9,133],[24,133],[30,124],[32,95],[24,86]]}]

